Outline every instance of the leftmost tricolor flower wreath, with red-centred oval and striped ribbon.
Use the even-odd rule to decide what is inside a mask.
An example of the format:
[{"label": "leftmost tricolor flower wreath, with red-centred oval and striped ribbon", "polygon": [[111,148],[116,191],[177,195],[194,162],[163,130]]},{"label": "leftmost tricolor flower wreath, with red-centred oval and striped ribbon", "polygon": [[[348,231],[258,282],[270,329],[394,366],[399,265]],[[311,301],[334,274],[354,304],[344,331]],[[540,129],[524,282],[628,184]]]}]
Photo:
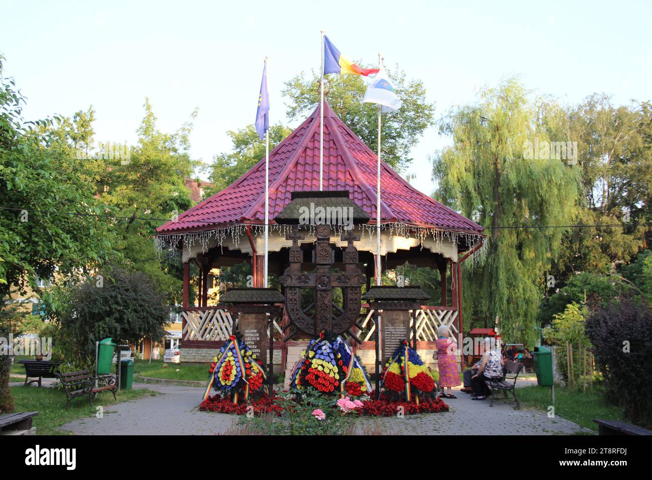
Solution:
[{"label": "leftmost tricolor flower wreath, with red-centred oval and striped ribbon", "polygon": [[[204,392],[203,400],[208,398],[211,387],[225,398],[232,395],[237,404],[239,396],[248,400],[252,392],[267,392],[267,376],[256,355],[241,338],[231,335],[220,349],[211,368],[211,379]],[[264,387],[264,388],[263,388]]]}]

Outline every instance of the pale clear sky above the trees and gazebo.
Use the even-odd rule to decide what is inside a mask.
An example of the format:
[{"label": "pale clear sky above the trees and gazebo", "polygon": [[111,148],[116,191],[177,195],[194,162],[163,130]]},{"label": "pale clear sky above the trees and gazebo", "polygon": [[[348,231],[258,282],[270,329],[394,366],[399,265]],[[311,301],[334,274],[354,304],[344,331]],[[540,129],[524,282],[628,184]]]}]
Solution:
[{"label": "pale clear sky above the trees and gazebo", "polygon": [[[287,123],[282,83],[319,69],[321,29],[351,59],[381,52],[421,78],[437,118],[512,75],[562,103],[652,97],[650,1],[13,1],[3,17],[5,76],[28,98],[25,118],[92,104],[96,140],[132,144],[145,97],[162,131],[199,107],[190,140],[205,162],[230,150],[226,131],[253,123],[265,56],[271,122]],[[424,193],[427,156],[449,142],[432,127],[413,149]]]}]

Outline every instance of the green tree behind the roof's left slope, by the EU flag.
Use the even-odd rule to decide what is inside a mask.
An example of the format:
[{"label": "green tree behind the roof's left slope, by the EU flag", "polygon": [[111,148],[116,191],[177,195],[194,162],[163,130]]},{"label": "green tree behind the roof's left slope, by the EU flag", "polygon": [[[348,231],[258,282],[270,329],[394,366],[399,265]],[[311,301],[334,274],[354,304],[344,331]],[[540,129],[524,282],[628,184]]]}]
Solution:
[{"label": "green tree behind the roof's left slope, by the EU flag", "polygon": [[[280,123],[269,127],[270,152],[290,133],[292,133],[291,129],[280,125]],[[205,189],[205,198],[215,195],[218,191],[233,184],[235,180],[265,158],[265,142],[260,140],[254,125],[247,125],[238,131],[231,130],[227,132],[227,135],[231,137],[233,150],[215,155],[213,164],[207,167],[213,187]]]}]

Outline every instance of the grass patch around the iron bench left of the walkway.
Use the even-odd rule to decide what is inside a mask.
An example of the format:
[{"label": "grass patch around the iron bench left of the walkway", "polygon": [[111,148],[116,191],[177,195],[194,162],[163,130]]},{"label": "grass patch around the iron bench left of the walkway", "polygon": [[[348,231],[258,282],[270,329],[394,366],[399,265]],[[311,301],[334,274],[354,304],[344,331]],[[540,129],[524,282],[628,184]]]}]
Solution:
[{"label": "grass patch around the iron bench left of the walkway", "polygon": [[[32,426],[37,428],[37,435],[65,435],[65,432],[57,430],[57,426],[83,417],[92,417],[97,412],[86,398],[74,398],[66,410],[66,394],[59,389],[11,387],[11,394],[16,404],[14,411],[38,411],[32,422]],[[93,400],[93,405],[102,406],[106,413],[110,410],[108,407],[116,403],[156,394],[157,392],[146,389],[123,390],[117,393],[118,400],[115,402],[111,392],[100,392]]]}]

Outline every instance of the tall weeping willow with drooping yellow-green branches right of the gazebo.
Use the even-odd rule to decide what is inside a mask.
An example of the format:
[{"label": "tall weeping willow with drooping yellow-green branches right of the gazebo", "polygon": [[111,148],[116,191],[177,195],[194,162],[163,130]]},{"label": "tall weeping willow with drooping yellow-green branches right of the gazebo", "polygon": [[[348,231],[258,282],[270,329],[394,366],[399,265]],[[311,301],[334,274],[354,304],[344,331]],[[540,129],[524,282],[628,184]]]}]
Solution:
[{"label": "tall weeping willow with drooping yellow-green branches right of the gazebo", "polygon": [[484,263],[464,273],[466,311],[497,321],[504,340],[533,345],[563,232],[544,227],[569,225],[579,191],[574,159],[556,158],[574,152],[550,143],[570,140],[567,116],[511,79],[451,110],[440,129],[453,144],[433,159],[435,195],[488,235]]}]

